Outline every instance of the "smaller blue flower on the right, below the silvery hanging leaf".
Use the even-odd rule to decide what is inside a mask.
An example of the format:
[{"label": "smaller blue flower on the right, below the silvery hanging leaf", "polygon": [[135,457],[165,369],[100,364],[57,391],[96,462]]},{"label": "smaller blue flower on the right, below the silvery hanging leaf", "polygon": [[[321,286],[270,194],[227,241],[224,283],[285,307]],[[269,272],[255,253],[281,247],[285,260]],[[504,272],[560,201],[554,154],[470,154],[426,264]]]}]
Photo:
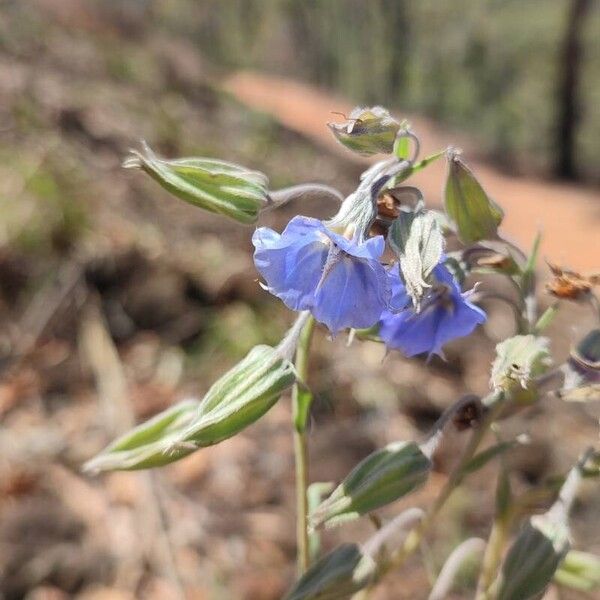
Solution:
[{"label": "smaller blue flower on the right, below the silvery hanging leaf", "polygon": [[408,296],[399,274],[395,270],[390,273],[392,306],[381,315],[379,336],[389,348],[406,356],[425,352],[441,355],[444,344],[468,335],[486,320],[486,314],[468,301],[468,293],[461,292],[443,264],[434,268],[433,276],[435,283],[419,312],[413,308],[394,312],[403,300],[408,304]]}]

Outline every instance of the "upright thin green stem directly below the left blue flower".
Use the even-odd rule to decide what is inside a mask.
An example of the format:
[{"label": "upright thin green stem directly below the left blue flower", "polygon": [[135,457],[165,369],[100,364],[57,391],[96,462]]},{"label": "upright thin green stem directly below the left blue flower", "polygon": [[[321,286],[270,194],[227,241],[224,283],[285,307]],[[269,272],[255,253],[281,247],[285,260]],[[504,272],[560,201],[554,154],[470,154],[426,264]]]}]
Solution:
[{"label": "upright thin green stem directly below the left blue flower", "polygon": [[315,327],[315,320],[309,317],[302,329],[296,348],[296,374],[299,382],[292,390],[292,418],[294,425],[294,459],[296,463],[296,543],[298,546],[298,575],[302,575],[309,565],[308,539],[308,411],[312,398],[304,387],[308,374],[308,355]]}]

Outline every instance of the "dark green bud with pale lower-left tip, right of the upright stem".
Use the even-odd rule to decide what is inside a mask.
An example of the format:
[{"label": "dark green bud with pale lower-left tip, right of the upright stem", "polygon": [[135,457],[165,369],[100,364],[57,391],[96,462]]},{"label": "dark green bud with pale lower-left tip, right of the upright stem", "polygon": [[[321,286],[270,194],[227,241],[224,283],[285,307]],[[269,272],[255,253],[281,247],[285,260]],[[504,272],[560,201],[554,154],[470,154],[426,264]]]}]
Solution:
[{"label": "dark green bud with pale lower-left tip, right of the upright stem", "polygon": [[431,460],[416,442],[395,442],[362,460],[310,516],[312,527],[358,518],[415,491]]}]

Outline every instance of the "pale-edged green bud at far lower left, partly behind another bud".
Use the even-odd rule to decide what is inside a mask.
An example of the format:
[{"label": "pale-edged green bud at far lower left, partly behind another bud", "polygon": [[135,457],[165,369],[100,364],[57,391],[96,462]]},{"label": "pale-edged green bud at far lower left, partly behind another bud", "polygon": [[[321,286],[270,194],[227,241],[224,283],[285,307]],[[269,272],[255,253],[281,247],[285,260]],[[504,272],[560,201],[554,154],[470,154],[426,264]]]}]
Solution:
[{"label": "pale-edged green bud at far lower left, partly behind another bud", "polygon": [[191,454],[195,446],[177,444],[177,441],[195,419],[199,407],[198,400],[184,400],[164,410],[118,438],[85,463],[83,470],[98,473],[150,469]]}]

